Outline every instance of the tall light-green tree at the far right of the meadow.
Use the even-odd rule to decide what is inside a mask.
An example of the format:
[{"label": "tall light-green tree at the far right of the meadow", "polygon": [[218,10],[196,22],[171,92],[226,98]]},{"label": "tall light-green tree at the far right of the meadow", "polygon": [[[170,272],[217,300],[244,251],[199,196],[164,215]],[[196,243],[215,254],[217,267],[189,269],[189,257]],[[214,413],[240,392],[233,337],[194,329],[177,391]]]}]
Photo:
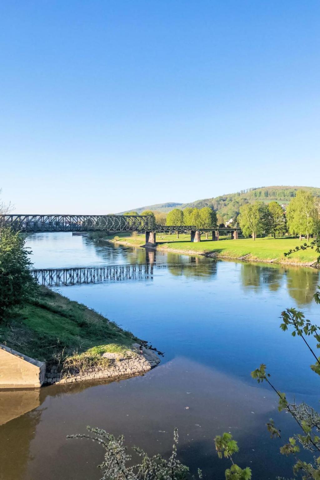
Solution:
[{"label": "tall light-green tree at the far right of the meadow", "polygon": [[300,240],[302,235],[306,235],[309,240],[310,234],[315,233],[318,212],[316,199],[310,192],[298,190],[287,207],[286,215],[289,232],[298,234]]}]

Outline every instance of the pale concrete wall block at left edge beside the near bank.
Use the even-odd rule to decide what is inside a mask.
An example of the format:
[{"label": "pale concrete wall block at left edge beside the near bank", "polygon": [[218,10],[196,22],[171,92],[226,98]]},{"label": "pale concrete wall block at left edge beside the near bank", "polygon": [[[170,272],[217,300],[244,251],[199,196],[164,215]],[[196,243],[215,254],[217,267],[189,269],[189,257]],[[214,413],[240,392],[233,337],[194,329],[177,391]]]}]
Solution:
[{"label": "pale concrete wall block at left edge beside the near bank", "polygon": [[0,344],[0,389],[41,387],[46,363]]}]

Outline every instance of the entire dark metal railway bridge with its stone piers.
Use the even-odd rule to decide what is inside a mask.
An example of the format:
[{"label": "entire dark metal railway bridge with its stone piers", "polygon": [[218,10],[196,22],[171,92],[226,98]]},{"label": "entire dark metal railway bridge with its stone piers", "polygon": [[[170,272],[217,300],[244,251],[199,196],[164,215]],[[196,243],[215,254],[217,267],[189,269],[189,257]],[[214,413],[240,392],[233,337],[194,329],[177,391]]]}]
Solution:
[{"label": "entire dark metal railway bridge with its stone piers", "polygon": [[158,225],[152,215],[0,215],[0,226],[21,232],[145,232],[145,246],[156,244],[156,233],[188,233],[191,241],[201,241],[201,234],[212,232],[212,240],[221,234],[237,239],[240,228],[197,228],[194,225]]}]

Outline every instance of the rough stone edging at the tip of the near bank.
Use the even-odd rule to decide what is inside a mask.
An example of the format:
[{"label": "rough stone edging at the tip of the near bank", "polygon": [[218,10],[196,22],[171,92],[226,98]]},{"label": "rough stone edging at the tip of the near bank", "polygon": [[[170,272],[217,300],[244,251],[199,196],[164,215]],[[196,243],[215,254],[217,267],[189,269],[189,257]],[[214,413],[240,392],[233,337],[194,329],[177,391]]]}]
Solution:
[{"label": "rough stone edging at the tip of the near bank", "polygon": [[127,357],[119,357],[116,353],[104,353],[102,356],[109,360],[106,367],[92,367],[83,372],[73,371],[69,374],[59,371],[58,367],[46,372],[45,385],[70,384],[84,380],[101,380],[123,376],[133,376],[148,372],[160,362],[158,355],[149,348],[135,343],[132,353]]}]

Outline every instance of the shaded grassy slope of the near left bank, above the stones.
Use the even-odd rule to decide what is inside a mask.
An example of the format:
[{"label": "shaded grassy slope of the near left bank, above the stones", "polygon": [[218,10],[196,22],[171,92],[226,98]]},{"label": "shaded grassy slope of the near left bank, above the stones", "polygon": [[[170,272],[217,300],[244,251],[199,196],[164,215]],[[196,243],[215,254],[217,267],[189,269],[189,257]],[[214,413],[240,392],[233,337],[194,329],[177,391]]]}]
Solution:
[{"label": "shaded grassy slope of the near left bank, above the stones", "polygon": [[0,324],[0,343],[48,365],[101,364],[105,352],[128,355],[135,340],[99,313],[45,287],[36,301]]}]

